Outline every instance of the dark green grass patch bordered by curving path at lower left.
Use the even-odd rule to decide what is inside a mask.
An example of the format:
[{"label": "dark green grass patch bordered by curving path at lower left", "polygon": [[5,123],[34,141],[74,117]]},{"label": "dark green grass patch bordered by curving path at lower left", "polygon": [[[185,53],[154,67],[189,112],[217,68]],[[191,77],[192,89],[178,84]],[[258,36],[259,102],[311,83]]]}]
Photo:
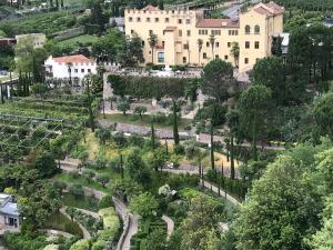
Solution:
[{"label": "dark green grass patch bordered by curving path at lower left", "polygon": [[44,226],[47,229],[54,229],[63,232],[69,232],[73,236],[83,237],[83,232],[79,224],[71,221],[64,214],[58,212],[50,216],[48,222]]}]

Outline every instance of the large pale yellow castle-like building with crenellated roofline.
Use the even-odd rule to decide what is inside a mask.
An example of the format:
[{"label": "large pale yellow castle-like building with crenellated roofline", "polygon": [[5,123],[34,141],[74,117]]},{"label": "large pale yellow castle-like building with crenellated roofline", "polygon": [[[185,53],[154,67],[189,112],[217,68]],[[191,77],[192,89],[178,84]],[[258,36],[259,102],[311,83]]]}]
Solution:
[{"label": "large pale yellow castle-like building with crenellated roofline", "polygon": [[[202,10],[148,6],[125,10],[125,34],[143,40],[145,63],[204,66],[212,58],[221,58],[239,64],[243,72],[271,54],[272,37],[283,31],[283,13],[284,9],[273,2],[249,7],[235,20],[205,19]],[[151,33],[158,37],[153,51],[149,44]],[[238,60],[231,53],[234,43],[240,47]]]}]

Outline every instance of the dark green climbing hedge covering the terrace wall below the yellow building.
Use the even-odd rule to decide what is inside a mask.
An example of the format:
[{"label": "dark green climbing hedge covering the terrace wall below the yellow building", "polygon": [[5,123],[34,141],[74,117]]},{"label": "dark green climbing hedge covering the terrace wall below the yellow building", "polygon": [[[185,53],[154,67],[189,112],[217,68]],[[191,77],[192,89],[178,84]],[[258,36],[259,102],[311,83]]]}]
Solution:
[{"label": "dark green climbing hedge covering the terrace wall below the yellow building", "polygon": [[108,82],[111,83],[113,93],[118,96],[133,96],[137,98],[162,97],[181,98],[184,96],[185,86],[192,78],[158,78],[158,77],[132,77],[110,74]]}]

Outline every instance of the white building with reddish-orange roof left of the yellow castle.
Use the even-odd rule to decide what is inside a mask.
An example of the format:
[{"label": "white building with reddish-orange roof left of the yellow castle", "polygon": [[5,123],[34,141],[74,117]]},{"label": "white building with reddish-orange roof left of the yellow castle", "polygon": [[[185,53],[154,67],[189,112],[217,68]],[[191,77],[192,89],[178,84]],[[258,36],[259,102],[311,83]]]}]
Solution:
[{"label": "white building with reddish-orange roof left of the yellow castle", "polygon": [[72,79],[81,82],[89,73],[97,73],[95,61],[82,56],[53,58],[50,56],[46,62],[46,74],[48,79]]}]

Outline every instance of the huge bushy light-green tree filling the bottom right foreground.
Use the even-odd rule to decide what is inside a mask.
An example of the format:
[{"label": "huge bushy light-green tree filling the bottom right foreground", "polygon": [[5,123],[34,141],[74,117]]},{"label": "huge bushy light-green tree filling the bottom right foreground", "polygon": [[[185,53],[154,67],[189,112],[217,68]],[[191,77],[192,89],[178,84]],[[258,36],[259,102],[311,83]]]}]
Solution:
[{"label": "huge bushy light-green tree filling the bottom right foreground", "polygon": [[236,249],[309,249],[303,239],[319,226],[321,201],[300,163],[281,156],[254,182],[236,221]]}]

